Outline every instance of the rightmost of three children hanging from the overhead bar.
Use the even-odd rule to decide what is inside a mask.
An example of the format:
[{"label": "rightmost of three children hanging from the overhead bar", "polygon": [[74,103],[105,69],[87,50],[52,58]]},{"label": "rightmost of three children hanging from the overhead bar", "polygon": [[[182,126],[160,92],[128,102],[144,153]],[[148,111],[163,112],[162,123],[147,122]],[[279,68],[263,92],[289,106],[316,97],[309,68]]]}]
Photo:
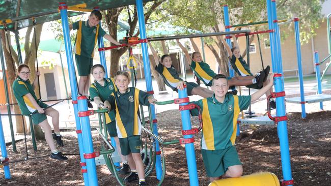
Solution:
[{"label": "rightmost of three children hanging from the overhead bar", "polygon": [[[234,47],[231,48],[228,45],[228,43],[225,41],[224,37],[223,36],[220,37],[224,45],[224,48],[228,51],[230,64],[232,68],[236,71],[236,73],[239,76],[252,76],[253,74],[251,73],[250,67],[246,64],[246,61],[243,59],[243,57],[240,54],[240,49],[236,36],[232,35],[232,38],[233,38]],[[270,71],[270,66],[267,66],[263,71],[259,72],[260,74],[262,72],[264,72],[265,74],[262,86],[259,86],[257,84],[252,84],[252,85],[246,85],[246,87],[261,89],[264,85],[268,83],[267,76],[269,74],[269,71]],[[272,88],[269,91],[266,91],[266,96],[268,97],[272,92],[273,92]],[[271,109],[276,108],[276,102],[273,99],[270,100],[270,108]]]}]

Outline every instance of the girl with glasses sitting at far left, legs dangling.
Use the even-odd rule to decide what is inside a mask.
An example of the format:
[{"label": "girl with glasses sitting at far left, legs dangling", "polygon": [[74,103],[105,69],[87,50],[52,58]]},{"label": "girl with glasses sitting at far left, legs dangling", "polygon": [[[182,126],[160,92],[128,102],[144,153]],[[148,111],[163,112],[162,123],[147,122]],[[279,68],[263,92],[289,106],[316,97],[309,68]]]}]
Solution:
[{"label": "girl with glasses sitting at far left, legs dangling", "polygon": [[[39,71],[36,72],[36,77],[32,84],[29,80],[30,74],[29,66],[25,64],[18,66],[16,80],[13,83],[13,92],[17,104],[22,115],[31,116],[33,123],[39,125],[44,131],[46,142],[51,150],[50,158],[67,160],[68,158],[63,156],[53,141],[55,139],[58,145],[64,146],[59,129],[59,112],[37,99],[34,89],[38,85],[38,78],[36,77],[40,73]],[[46,115],[52,117],[54,134],[52,134]]]}]

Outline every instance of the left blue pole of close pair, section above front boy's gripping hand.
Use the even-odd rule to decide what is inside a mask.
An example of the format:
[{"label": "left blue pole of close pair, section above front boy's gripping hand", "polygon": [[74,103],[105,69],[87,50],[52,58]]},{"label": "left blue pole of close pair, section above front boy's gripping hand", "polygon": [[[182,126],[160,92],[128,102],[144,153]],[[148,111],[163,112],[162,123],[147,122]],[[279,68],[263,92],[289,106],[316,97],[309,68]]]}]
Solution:
[{"label": "left blue pole of close pair, section above front boy's gripping hand", "polygon": [[[267,0],[267,12],[268,12],[268,27],[270,30],[273,30],[273,23],[272,23],[272,9],[271,9],[271,0]],[[272,66],[272,71],[277,72],[278,68],[276,65],[276,60],[275,60],[275,53],[274,53],[274,33],[269,33],[269,43],[270,43],[270,53],[271,53],[271,66]]]}]

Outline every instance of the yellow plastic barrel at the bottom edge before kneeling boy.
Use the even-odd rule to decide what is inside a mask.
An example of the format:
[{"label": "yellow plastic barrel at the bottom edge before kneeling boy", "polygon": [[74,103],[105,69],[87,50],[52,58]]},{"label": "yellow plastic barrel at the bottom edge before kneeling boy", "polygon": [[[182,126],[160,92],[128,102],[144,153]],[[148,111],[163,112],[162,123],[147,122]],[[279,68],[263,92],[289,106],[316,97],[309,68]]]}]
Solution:
[{"label": "yellow plastic barrel at the bottom edge before kneeling boy", "polygon": [[271,172],[244,175],[237,178],[218,179],[208,186],[280,186],[277,176]]}]

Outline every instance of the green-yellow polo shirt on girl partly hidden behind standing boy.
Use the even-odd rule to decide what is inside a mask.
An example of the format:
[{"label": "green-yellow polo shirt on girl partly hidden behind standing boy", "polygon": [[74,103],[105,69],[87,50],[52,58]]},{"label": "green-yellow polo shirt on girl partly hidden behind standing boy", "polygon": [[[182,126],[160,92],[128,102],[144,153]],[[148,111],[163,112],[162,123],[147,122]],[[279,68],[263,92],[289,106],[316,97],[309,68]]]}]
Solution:
[{"label": "green-yellow polo shirt on girl partly hidden behind standing boy", "polygon": [[[113,78],[103,78],[104,85],[100,85],[97,81],[94,81],[90,85],[90,98],[93,101],[93,98],[99,97],[102,102],[108,99],[108,97],[113,93],[117,91],[117,87],[115,85],[115,81]],[[108,114],[105,114],[106,116],[106,123],[111,123],[112,121],[115,121],[115,111],[111,110]]]}]

